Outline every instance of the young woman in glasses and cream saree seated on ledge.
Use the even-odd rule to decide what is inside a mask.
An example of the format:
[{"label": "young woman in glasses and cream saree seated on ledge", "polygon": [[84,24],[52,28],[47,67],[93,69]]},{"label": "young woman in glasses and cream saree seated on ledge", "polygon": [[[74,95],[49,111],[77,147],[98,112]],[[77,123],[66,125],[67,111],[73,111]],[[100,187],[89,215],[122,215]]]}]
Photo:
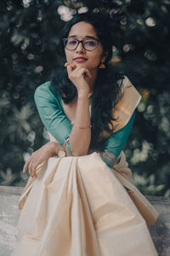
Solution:
[{"label": "young woman in glasses and cream saree seated on ledge", "polygon": [[62,35],[65,67],[37,87],[50,142],[26,161],[13,256],[155,256],[158,213],[130,179],[122,152],[140,96],[109,67],[111,32],[81,14]]}]

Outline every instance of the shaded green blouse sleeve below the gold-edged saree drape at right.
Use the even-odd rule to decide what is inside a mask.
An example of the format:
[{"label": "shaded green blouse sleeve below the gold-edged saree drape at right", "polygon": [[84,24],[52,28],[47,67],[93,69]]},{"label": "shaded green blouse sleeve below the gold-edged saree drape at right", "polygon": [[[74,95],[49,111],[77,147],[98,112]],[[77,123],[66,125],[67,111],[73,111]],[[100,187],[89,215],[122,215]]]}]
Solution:
[{"label": "shaded green blouse sleeve below the gold-edged saree drape at right", "polygon": [[111,136],[106,139],[104,147],[105,149],[102,152],[102,155],[107,166],[112,168],[115,165],[116,159],[124,148],[130,131],[132,130],[133,120],[134,112],[129,119],[127,125],[122,127],[122,129],[120,129],[119,131],[111,134]]}]

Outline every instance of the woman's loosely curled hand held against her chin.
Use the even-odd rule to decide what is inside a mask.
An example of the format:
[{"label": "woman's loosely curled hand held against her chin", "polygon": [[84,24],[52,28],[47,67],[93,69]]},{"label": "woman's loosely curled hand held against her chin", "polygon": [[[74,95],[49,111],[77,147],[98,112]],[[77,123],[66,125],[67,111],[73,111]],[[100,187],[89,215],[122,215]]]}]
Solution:
[{"label": "woman's loosely curled hand held against her chin", "polygon": [[67,66],[67,72],[69,79],[77,87],[78,95],[88,95],[90,90],[88,81],[92,79],[88,68],[71,63]]}]

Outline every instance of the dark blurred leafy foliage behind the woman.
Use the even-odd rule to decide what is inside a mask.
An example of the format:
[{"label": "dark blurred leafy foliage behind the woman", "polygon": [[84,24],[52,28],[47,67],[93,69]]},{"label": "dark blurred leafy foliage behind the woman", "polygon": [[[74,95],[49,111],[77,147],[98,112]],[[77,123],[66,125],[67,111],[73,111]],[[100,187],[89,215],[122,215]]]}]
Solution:
[{"label": "dark blurred leafy foliage behind the woman", "polygon": [[170,0],[1,0],[0,184],[25,186],[22,167],[48,140],[34,90],[63,62],[59,34],[72,15],[111,17],[111,65],[142,95],[125,153],[144,195],[170,196]]}]

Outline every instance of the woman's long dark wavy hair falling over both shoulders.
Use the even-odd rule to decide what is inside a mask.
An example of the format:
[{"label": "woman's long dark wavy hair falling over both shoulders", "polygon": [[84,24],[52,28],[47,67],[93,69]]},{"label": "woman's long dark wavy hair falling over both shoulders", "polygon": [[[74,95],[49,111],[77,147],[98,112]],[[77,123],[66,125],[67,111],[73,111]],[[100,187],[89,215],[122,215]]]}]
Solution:
[{"label": "woman's long dark wavy hair falling over both shoulders", "polygon": [[[121,85],[118,84],[117,81],[122,81],[123,76],[120,73],[117,73],[114,68],[109,67],[113,45],[111,39],[111,29],[109,28],[111,20],[108,20],[101,14],[83,13],[75,15],[66,23],[59,42],[62,55],[65,55],[62,38],[67,38],[71,30],[71,26],[80,21],[88,22],[94,26],[104,52],[107,51],[108,53],[105,60],[105,69],[99,69],[94,85],[94,93],[91,96],[91,147],[93,146],[93,148],[101,148],[99,147],[99,144],[102,145],[103,141],[101,140],[101,137],[99,137],[99,133],[103,130],[112,133],[114,130],[113,125],[110,125],[112,127],[111,128],[109,124],[111,124],[111,120],[114,119],[112,109],[116,106],[116,103],[121,98]],[[71,102],[75,96],[77,96],[77,88],[68,78],[67,69],[64,67],[64,65],[63,67],[60,67],[54,71],[51,79],[54,89],[59,92],[63,102],[66,104]]]}]

